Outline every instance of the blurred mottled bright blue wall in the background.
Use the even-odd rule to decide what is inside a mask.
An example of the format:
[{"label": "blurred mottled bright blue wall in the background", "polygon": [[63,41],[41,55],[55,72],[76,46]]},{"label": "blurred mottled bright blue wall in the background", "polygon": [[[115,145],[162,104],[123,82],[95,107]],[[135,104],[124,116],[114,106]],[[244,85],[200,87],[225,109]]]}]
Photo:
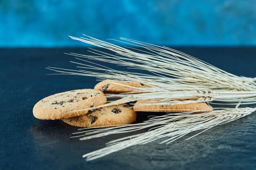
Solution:
[{"label": "blurred mottled bright blue wall in the background", "polygon": [[85,46],[67,35],[163,45],[256,45],[255,0],[0,0],[1,47]]}]

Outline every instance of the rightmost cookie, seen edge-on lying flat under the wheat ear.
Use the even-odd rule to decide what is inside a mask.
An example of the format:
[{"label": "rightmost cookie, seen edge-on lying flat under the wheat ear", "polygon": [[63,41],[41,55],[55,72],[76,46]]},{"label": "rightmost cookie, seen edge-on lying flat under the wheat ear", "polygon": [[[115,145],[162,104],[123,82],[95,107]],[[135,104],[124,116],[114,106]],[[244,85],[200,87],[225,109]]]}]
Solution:
[{"label": "rightmost cookie, seen edge-on lying flat under the wheat ear", "polygon": [[[191,112],[198,111],[198,113],[211,112],[213,109],[208,103],[191,103],[191,104],[157,104],[156,100],[139,100],[135,103],[133,110],[141,112]],[[201,110],[203,109],[203,110]]]}]

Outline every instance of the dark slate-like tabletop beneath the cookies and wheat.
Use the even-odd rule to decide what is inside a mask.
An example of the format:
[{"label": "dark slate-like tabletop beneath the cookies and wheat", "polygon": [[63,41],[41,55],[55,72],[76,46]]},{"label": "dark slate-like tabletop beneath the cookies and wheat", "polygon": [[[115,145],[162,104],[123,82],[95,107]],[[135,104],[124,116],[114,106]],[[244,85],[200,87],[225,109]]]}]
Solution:
[{"label": "dark slate-like tabletop beneath the cookies and wheat", "polygon": [[[256,76],[256,48],[177,49],[236,75]],[[52,72],[45,66],[74,68],[68,62],[72,57],[63,52],[86,53],[86,49],[0,49],[1,170],[256,169],[255,113],[188,141],[186,137],[169,145],[154,141],[85,161],[83,154],[103,148],[107,141],[125,135],[79,141],[69,138],[76,132],[75,127],[59,120],[33,117],[32,108],[43,97],[77,88],[93,88],[96,84],[92,77],[46,75]],[[146,116],[139,114],[138,121]]]}]

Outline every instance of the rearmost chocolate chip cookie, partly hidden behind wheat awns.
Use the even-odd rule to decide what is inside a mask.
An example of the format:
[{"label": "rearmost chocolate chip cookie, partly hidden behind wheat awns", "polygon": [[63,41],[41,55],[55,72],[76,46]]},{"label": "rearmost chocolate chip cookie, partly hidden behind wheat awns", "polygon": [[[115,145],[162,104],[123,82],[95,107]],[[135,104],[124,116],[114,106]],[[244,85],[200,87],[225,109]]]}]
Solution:
[{"label": "rearmost chocolate chip cookie, partly hidden behind wheat awns", "polygon": [[[113,84],[111,82],[118,83],[118,84],[124,84],[126,86]],[[105,81],[102,81],[102,82],[99,82],[98,84],[96,84],[96,86],[94,86],[94,89],[98,89],[98,90],[101,90],[101,91],[107,92],[107,93],[126,93],[126,92],[132,92],[132,91],[135,91],[135,93],[136,93],[136,88],[131,88],[131,87],[127,87],[127,86],[132,86],[132,87],[137,87],[137,88],[150,87],[146,84],[137,83],[137,82],[105,80]]]}]

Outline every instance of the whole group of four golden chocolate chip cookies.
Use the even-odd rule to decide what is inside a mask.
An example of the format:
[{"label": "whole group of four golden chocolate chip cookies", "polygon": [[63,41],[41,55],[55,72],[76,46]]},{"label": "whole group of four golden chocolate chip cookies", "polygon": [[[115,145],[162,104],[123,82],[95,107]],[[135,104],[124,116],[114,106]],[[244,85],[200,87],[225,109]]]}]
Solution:
[{"label": "whole group of four golden chocolate chip cookies", "polygon": [[[118,85],[117,85],[118,84]],[[99,82],[94,89],[80,89],[57,93],[41,99],[33,108],[34,117],[38,119],[62,119],[65,123],[77,127],[116,126],[131,124],[136,120],[136,112],[186,112],[212,108],[206,103],[158,105],[155,100],[137,101],[132,109],[128,104],[107,106],[92,110],[82,110],[101,106],[107,102],[104,93],[125,93],[134,91],[129,87],[146,88],[136,82]]]}]

